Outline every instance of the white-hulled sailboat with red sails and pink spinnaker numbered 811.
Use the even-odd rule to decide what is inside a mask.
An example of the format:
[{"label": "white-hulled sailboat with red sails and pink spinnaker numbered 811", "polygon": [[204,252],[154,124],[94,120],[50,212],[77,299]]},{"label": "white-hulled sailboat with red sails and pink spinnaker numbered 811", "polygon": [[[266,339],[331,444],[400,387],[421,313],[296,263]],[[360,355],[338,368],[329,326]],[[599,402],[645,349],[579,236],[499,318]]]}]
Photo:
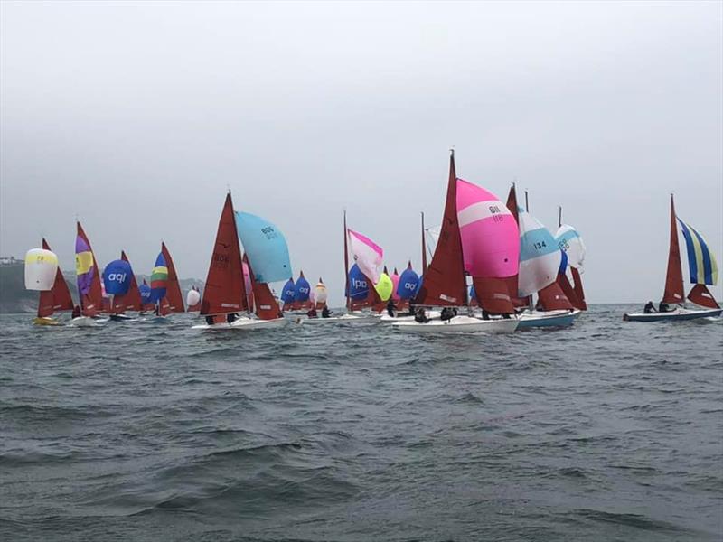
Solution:
[{"label": "white-hulled sailboat with red sails and pink spinnaker numbered 811", "polygon": [[[468,309],[467,272],[477,291],[484,292],[490,313],[513,313],[501,277],[514,273],[518,255],[511,213],[490,192],[457,178],[452,151],[442,227],[414,304]],[[482,320],[455,315],[448,320],[393,322],[392,326],[401,332],[514,332],[517,323],[515,318]]]}]

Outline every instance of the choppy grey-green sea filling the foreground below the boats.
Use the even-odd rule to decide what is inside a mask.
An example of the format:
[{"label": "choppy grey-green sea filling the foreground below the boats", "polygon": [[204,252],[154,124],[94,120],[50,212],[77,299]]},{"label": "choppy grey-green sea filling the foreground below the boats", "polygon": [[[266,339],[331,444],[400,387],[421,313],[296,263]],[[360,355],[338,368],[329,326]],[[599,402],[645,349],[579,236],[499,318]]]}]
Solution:
[{"label": "choppy grey-green sea filling the foreground below the boats", "polygon": [[7,540],[718,540],[723,322],[413,337],[3,316]]}]

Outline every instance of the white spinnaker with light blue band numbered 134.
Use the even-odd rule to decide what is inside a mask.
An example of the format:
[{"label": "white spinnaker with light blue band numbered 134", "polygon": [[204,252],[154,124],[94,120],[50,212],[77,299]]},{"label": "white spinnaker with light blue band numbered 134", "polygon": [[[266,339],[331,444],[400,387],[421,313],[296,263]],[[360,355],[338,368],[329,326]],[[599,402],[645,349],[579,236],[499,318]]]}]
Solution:
[{"label": "white spinnaker with light blue band numbered 134", "polygon": [[518,296],[535,294],[558,278],[562,252],[548,229],[528,212],[520,212]]}]

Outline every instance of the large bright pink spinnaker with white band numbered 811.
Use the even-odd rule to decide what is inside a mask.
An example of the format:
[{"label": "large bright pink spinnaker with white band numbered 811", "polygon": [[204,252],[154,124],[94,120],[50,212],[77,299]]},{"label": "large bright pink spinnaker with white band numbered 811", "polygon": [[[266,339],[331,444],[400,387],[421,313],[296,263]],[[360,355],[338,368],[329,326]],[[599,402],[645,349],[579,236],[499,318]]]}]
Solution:
[{"label": "large bright pink spinnaker with white band numbered 811", "polygon": [[492,192],[457,179],[457,220],[465,271],[504,278],[517,274],[520,230],[510,210]]}]

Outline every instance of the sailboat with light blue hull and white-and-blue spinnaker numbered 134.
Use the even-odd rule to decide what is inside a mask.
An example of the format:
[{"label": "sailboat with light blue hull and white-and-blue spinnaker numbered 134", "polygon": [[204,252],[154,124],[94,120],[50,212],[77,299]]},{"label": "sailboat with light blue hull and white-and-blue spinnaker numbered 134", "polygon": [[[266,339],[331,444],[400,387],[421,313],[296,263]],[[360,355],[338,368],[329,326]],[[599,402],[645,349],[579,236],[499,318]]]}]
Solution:
[{"label": "sailboat with light blue hull and white-and-blue spinnaker numbered 134", "polygon": [[[525,199],[527,192],[525,192]],[[575,321],[579,312],[558,285],[559,272],[564,271],[565,254],[547,228],[527,210],[517,205],[517,191],[512,184],[507,206],[517,219],[520,229],[520,269],[510,279],[508,287],[512,303],[523,308],[520,329],[530,327],[565,327]],[[533,308],[532,295],[538,294],[537,308]]]}]

